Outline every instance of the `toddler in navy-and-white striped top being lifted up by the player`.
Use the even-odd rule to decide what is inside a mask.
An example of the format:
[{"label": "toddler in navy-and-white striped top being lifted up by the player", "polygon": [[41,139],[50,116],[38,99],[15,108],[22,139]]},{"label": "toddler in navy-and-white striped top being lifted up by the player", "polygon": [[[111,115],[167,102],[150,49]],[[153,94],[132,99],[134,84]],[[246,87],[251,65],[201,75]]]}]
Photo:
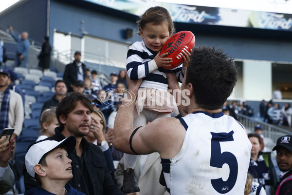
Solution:
[{"label": "toddler in navy-and-white striped top being lifted up by the player", "polygon": [[[137,21],[138,35],[143,39],[135,42],[127,54],[127,73],[132,80],[143,78],[134,115],[134,127],[144,126],[147,121],[155,118],[170,117],[179,114],[174,97],[167,92],[168,82],[165,73],[176,73],[178,81],[183,80],[183,67],[186,68],[191,55],[186,52],[183,56],[183,65],[171,70],[168,67],[172,63],[171,58],[164,58],[168,53],[160,55],[160,50],[165,42],[174,33],[174,24],[168,11],[163,7],[151,7]],[[185,70],[185,69],[184,69]],[[139,98],[142,94],[142,97]],[[158,103],[157,99],[163,103]],[[147,102],[151,102],[150,105]],[[124,155],[124,193],[139,192],[139,186],[133,172],[138,156]]]}]

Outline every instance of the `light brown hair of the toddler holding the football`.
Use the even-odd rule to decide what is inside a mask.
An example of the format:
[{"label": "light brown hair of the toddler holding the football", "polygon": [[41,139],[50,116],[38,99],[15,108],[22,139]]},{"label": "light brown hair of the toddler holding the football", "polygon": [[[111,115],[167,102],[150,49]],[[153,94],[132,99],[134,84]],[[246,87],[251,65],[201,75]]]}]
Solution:
[{"label": "light brown hair of the toddler holding the football", "polygon": [[[143,29],[147,23],[153,23],[154,25],[158,25],[164,21],[167,22],[169,35],[172,35],[175,32],[174,23],[171,19],[169,12],[164,7],[150,7],[145,11],[142,16],[140,16],[137,24],[138,27]],[[137,34],[140,35],[139,32],[137,32]]]}]

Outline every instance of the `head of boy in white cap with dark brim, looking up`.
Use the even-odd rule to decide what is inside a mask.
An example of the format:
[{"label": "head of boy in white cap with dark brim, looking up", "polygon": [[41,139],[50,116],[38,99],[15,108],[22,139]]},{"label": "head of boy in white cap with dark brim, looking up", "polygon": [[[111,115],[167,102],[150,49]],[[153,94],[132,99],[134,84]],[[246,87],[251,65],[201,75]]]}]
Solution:
[{"label": "head of boy in white cap with dark brim, looking up", "polygon": [[68,158],[76,145],[69,136],[62,141],[44,140],[30,146],[25,155],[27,173],[42,186],[48,180],[63,180],[66,184],[72,177],[72,160]]}]

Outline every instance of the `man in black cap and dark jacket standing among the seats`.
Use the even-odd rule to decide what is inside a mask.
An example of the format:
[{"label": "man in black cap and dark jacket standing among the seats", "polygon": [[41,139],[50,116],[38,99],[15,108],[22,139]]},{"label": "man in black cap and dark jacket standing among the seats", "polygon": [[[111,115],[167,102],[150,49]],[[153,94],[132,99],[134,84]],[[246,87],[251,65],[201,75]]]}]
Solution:
[{"label": "man in black cap and dark jacket standing among the seats", "polygon": [[73,92],[74,83],[78,80],[84,81],[86,66],[82,63],[81,53],[76,51],[74,54],[74,61],[71,64],[67,64],[64,72],[63,79],[68,86],[68,92]]}]

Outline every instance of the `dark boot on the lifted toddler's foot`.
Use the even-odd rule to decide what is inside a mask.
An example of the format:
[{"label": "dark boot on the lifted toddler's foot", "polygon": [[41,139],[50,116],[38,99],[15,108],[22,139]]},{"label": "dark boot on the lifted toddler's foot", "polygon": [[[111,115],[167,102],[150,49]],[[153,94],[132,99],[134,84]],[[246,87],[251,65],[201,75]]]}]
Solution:
[{"label": "dark boot on the lifted toddler's foot", "polygon": [[140,192],[140,188],[137,184],[137,179],[133,169],[128,168],[124,170],[124,186],[123,192],[125,194]]}]

